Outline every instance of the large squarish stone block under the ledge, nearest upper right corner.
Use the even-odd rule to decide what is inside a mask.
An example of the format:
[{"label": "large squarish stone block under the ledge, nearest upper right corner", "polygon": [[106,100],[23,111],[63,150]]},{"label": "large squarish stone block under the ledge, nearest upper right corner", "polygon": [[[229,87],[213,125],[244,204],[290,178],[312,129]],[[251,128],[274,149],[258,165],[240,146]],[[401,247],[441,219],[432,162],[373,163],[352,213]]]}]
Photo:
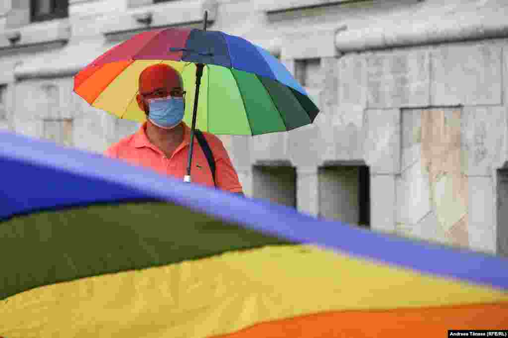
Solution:
[{"label": "large squarish stone block under the ledge, nearest upper right corner", "polygon": [[431,105],[501,104],[500,46],[443,46],[431,55]]}]

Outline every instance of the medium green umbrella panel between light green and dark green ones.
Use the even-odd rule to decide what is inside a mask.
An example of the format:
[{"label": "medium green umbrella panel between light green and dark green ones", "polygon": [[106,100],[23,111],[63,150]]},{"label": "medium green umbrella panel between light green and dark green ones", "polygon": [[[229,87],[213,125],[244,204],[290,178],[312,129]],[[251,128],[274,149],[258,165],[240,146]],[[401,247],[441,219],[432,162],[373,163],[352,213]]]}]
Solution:
[{"label": "medium green umbrella panel between light green and dark green ones", "polygon": [[285,131],[280,114],[270,95],[255,74],[232,69],[245,103],[252,135]]}]

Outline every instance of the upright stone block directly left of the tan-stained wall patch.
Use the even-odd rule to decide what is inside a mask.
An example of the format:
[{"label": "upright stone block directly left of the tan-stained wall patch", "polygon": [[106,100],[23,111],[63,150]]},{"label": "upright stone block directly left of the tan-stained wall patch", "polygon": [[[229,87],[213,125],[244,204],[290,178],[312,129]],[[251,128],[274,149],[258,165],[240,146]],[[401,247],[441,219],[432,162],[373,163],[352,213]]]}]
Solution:
[{"label": "upright stone block directly left of the tan-stained wall patch", "polygon": [[399,109],[365,111],[364,159],[371,173],[395,174],[400,169]]}]

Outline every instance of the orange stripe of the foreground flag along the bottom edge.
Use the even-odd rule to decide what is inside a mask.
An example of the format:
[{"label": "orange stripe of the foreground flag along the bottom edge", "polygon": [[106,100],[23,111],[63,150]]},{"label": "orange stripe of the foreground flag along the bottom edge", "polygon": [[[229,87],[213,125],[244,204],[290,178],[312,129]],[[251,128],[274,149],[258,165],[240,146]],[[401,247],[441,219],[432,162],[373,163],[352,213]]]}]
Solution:
[{"label": "orange stripe of the foreground flag along the bottom edge", "polygon": [[258,337],[445,337],[452,329],[508,328],[508,303],[332,311],[259,323],[215,338]]}]

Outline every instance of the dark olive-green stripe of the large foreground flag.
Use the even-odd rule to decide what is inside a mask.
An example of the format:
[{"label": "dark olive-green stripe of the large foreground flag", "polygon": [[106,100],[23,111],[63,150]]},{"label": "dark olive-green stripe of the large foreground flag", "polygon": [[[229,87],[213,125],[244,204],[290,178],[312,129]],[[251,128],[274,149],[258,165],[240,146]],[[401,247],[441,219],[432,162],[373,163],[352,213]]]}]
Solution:
[{"label": "dark olive-green stripe of the large foreground flag", "polygon": [[48,284],[288,243],[161,202],[92,205],[0,223],[0,299]]}]

